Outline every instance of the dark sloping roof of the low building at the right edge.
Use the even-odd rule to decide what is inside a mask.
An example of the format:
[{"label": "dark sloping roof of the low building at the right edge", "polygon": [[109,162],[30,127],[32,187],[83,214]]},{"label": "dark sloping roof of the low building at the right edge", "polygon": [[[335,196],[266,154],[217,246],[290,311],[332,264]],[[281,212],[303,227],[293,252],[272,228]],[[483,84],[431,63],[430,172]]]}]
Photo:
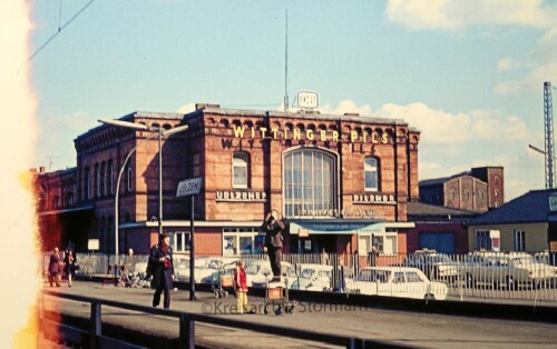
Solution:
[{"label": "dark sloping roof of the low building at the right edge", "polygon": [[548,197],[551,193],[557,193],[557,189],[530,190],[498,209],[472,219],[469,225],[488,226],[547,222],[549,213]]}]

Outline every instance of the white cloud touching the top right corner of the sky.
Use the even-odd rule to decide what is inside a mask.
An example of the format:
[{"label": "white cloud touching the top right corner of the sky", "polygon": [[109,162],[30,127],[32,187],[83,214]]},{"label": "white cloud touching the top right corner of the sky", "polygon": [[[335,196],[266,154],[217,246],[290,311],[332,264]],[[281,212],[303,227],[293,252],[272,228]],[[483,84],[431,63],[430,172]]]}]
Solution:
[{"label": "white cloud touching the top right corner of the sky", "polygon": [[555,26],[556,6],[541,0],[389,0],[389,21],[410,29],[459,30],[468,26]]}]

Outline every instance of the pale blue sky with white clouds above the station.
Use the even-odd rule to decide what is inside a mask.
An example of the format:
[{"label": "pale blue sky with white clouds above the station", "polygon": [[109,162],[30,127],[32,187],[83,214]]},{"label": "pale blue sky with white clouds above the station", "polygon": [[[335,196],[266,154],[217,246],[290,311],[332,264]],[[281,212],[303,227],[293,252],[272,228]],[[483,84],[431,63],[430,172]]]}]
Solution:
[{"label": "pale blue sky with white clouds above the station", "polygon": [[74,139],[99,118],[196,102],[282,110],[285,90],[295,110],[304,90],[321,113],[419,129],[420,180],[504,166],[506,201],[545,188],[528,144],[544,149],[544,82],[557,86],[557,0],[21,1],[30,167],[75,167]]}]

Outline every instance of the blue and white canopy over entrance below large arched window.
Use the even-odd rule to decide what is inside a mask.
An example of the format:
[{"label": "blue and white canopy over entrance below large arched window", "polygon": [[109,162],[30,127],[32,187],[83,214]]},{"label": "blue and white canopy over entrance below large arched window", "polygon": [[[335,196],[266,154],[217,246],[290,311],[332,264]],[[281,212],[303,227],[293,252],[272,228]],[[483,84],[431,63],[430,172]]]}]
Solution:
[{"label": "blue and white canopy over entrance below large arched window", "polygon": [[311,235],[354,235],[381,233],[385,225],[381,220],[312,219],[290,221],[290,233],[299,235],[300,230]]}]

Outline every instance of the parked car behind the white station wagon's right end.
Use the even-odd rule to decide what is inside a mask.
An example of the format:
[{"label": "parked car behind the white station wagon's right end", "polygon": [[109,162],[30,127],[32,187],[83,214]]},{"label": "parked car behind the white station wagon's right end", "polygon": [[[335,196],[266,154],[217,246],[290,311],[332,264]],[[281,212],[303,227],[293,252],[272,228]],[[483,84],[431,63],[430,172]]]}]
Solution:
[{"label": "parked car behind the white station wagon's right end", "polygon": [[404,266],[420,269],[431,280],[452,281],[459,275],[457,263],[448,255],[436,250],[417,250],[409,253]]}]

